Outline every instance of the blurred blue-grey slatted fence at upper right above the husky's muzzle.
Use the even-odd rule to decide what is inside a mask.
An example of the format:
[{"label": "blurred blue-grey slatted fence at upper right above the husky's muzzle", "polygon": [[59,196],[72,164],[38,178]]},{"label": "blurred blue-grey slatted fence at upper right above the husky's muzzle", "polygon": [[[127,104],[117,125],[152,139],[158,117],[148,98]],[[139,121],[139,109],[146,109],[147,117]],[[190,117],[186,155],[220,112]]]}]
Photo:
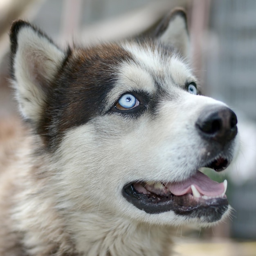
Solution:
[{"label": "blurred blue-grey slatted fence at upper right above the husky's muzzle", "polygon": [[256,121],[256,1],[211,1],[210,29],[216,45],[209,55],[211,94]]}]

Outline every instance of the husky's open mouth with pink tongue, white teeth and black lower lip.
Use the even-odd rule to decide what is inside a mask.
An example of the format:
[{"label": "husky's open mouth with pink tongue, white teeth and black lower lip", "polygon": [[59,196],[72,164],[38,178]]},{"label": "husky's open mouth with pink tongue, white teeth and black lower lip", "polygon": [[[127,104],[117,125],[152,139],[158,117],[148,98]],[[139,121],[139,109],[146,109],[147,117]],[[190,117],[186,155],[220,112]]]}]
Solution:
[{"label": "husky's open mouth with pink tongue, white teeth and black lower lip", "polygon": [[[216,171],[227,166],[226,160],[221,158],[211,165],[216,165]],[[146,213],[174,211],[179,215],[204,217],[206,222],[214,222],[220,220],[228,209],[226,190],[227,180],[218,183],[196,171],[182,182],[130,182],[124,186],[123,195]]]}]

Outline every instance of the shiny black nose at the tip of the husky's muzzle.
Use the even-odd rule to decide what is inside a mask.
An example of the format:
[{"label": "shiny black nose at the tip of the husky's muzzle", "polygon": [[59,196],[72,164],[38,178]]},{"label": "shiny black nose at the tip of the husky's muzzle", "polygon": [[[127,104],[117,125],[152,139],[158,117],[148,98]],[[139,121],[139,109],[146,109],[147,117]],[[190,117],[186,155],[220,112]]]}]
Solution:
[{"label": "shiny black nose at the tip of the husky's muzzle", "polygon": [[224,145],[236,137],[236,124],[236,114],[231,109],[209,107],[204,109],[195,125],[202,137]]}]

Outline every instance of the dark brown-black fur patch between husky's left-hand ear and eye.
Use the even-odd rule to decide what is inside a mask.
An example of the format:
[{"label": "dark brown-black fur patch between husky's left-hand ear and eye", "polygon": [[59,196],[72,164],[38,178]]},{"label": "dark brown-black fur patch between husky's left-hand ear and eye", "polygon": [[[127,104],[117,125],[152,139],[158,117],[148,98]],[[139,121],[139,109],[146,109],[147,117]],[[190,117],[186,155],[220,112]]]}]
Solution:
[{"label": "dark brown-black fur patch between husky's left-hand ear and eye", "polygon": [[38,133],[53,149],[66,130],[106,114],[106,96],[117,80],[117,67],[132,61],[118,45],[73,49],[46,99]]}]

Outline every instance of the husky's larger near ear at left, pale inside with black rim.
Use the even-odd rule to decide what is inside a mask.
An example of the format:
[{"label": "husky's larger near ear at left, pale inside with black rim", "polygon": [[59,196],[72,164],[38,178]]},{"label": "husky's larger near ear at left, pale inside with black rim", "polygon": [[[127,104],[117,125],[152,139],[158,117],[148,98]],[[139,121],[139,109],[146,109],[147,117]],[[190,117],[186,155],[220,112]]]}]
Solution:
[{"label": "husky's larger near ear at left, pale inside with black rim", "polygon": [[13,22],[10,41],[11,77],[20,111],[25,119],[36,123],[65,53],[40,30],[22,20]]}]

